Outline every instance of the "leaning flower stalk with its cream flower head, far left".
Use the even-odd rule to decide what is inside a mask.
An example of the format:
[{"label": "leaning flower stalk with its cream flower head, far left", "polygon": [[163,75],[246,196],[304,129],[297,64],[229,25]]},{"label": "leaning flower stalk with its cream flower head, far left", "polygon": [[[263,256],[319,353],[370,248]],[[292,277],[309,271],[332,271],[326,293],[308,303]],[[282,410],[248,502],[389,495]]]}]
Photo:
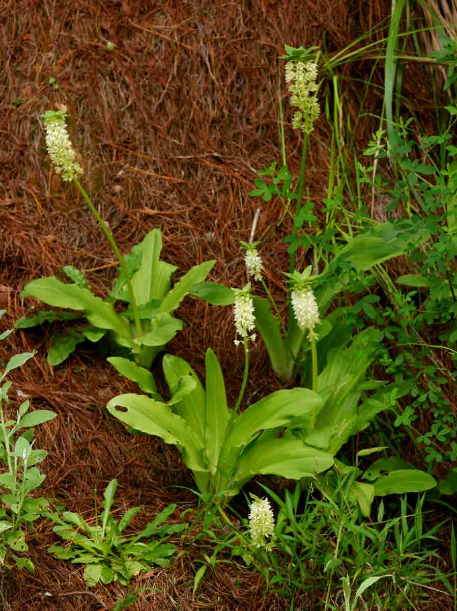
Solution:
[{"label": "leaning flower stalk with its cream flower head, far left", "polygon": [[97,208],[92,203],[89,195],[86,190],[82,187],[81,183],[78,180],[78,175],[82,174],[82,168],[75,161],[75,150],[71,145],[70,137],[68,137],[66,119],[67,119],[67,111],[47,111],[42,115],[43,122],[45,123],[46,130],[46,147],[48,148],[49,157],[54,164],[54,168],[56,173],[62,177],[64,181],[73,181],[75,183],[76,188],[81,193],[82,198],[87,203],[92,212],[93,216],[97,220],[98,224],[101,227],[106,239],[108,240],[111,248],[114,251],[114,254],[119,261],[120,268],[122,269],[122,273],[125,277],[125,282],[128,288],[130,305],[133,310],[133,316],[135,321],[135,329],[137,337],[141,337],[143,334],[141,320],[138,312],[138,307],[133,291],[133,286],[131,284],[130,275],[127,270],[127,266],[125,265],[125,260],[120,253],[119,247],[117,246],[112,233],[109,231],[106,223],[101,218],[100,214],[98,214]]}]

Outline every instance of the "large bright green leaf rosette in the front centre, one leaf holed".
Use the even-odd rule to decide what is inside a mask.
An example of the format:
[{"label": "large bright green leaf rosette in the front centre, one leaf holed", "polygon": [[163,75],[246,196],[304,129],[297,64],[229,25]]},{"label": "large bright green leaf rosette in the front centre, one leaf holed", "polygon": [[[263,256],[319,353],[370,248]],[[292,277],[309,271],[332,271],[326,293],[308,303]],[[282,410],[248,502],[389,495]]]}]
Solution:
[{"label": "large bright green leaf rosette in the front centre, one leaf holed", "polygon": [[132,393],[114,397],[107,408],[134,430],[177,445],[200,492],[230,497],[258,474],[299,479],[332,466],[328,452],[278,437],[293,420],[306,422],[318,411],[323,400],[312,390],[278,390],[239,414],[227,405],[224,376],[211,349],[205,388],[179,357],[164,356],[163,368],[170,401]]}]

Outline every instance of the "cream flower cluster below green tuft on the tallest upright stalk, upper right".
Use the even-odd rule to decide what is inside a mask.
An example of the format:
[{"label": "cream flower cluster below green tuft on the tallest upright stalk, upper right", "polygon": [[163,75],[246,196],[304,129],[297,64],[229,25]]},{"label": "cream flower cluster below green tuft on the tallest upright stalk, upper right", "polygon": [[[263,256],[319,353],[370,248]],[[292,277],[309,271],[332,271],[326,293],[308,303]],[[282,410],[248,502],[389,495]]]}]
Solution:
[{"label": "cream flower cluster below green tuft on the tallest upright stalk, upper right", "polygon": [[292,94],[290,103],[299,110],[294,112],[292,126],[306,134],[313,131],[313,125],[320,113],[316,98],[317,65],[314,62],[287,62],[285,81],[290,82]]}]

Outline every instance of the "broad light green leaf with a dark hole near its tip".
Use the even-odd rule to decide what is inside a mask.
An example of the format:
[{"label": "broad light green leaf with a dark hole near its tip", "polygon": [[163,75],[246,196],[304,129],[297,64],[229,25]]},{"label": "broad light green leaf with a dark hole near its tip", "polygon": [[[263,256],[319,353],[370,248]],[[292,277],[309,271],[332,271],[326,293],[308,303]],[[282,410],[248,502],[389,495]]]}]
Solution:
[{"label": "broad light green leaf with a dark hole near its tip", "polygon": [[174,414],[166,404],[145,395],[126,394],[112,398],[106,408],[115,418],[132,428],[148,435],[157,435],[166,444],[185,448],[183,458],[189,469],[206,470],[202,461],[203,444],[185,420]]}]

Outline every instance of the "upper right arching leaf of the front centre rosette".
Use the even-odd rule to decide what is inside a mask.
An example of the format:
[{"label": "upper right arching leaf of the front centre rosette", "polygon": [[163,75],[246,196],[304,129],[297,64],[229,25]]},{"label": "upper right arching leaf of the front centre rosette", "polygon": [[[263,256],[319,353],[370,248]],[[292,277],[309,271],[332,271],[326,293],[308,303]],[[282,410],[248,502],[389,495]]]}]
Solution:
[{"label": "upper right arching leaf of the front centre rosette", "polygon": [[[261,430],[285,426],[294,418],[310,419],[322,406],[322,398],[307,388],[277,390],[240,414],[233,423],[224,448],[244,448]],[[225,456],[225,453],[224,453]]]}]

